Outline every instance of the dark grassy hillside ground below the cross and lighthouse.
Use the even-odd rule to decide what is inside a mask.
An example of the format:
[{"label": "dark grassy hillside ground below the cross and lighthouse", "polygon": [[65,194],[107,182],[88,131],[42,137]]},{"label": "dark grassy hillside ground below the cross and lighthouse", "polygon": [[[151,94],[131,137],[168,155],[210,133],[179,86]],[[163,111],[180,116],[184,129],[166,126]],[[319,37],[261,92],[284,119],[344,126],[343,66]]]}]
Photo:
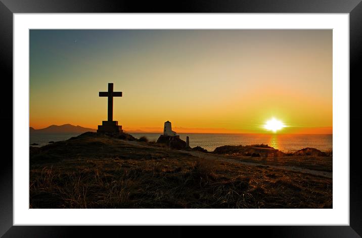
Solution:
[{"label": "dark grassy hillside ground below the cross and lighthouse", "polygon": [[332,157],[212,155],[121,138],[86,132],[30,147],[30,208],[332,208]]}]

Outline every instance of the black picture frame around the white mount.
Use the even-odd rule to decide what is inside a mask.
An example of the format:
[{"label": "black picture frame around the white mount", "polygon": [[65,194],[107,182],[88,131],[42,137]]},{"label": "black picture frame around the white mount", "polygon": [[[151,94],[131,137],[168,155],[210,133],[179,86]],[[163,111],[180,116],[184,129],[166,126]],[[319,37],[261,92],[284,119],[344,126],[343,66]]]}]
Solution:
[{"label": "black picture frame around the white mount", "polygon": [[[229,227],[229,232],[278,237],[361,237],[362,236],[362,176],[361,162],[357,155],[358,135],[361,134],[362,111],[358,110],[360,100],[358,80],[362,78],[362,3],[361,0],[223,0],[223,1],[95,1],[95,0],[0,0],[0,72],[3,92],[0,94],[3,113],[0,121],[3,134],[13,129],[13,14],[14,13],[349,13],[350,37],[350,222],[349,226],[242,226]],[[358,90],[358,91],[357,91]],[[9,92],[8,95],[6,92]],[[352,108],[354,110],[352,110]],[[11,127],[10,125],[13,125]],[[5,133],[4,133],[5,132]],[[11,133],[13,138],[13,133]],[[354,140],[353,136],[354,135]],[[9,137],[3,142],[7,152],[13,148]],[[335,145],[338,146],[338,145]],[[5,150],[4,150],[5,151]],[[147,232],[148,236],[190,236],[207,231],[213,236],[224,236],[225,232],[215,227],[203,231],[190,231],[190,227],[163,228],[144,227],[90,227],[90,226],[13,226],[13,149],[10,155],[3,155],[0,166],[0,235],[4,237],[69,237],[105,236],[117,232],[132,236]],[[156,230],[157,229],[157,230]],[[120,233],[121,231],[121,233]],[[145,233],[144,233],[145,234]]]}]

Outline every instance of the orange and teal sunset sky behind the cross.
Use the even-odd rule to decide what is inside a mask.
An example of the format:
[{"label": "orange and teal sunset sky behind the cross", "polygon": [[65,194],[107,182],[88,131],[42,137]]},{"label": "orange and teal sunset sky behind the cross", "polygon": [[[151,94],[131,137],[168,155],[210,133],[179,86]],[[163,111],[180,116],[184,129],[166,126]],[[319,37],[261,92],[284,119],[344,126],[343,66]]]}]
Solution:
[{"label": "orange and teal sunset sky behind the cross", "polygon": [[30,125],[332,133],[332,30],[30,30]]}]

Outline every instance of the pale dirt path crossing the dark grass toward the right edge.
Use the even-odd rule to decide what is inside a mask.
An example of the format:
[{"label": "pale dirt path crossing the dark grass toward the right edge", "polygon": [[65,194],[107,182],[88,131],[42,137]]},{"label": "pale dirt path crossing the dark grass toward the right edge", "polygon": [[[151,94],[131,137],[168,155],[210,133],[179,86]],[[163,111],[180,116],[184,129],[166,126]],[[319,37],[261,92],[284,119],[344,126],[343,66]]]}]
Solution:
[{"label": "pale dirt path crossing the dark grass toward the right edge", "polygon": [[249,166],[264,166],[264,167],[270,167],[270,168],[274,168],[274,169],[285,169],[285,170],[290,170],[290,171],[297,171],[297,172],[302,172],[302,173],[319,175],[319,176],[323,176],[323,177],[327,177],[327,178],[333,177],[332,172],[326,172],[326,171],[304,169],[304,168],[295,167],[295,166],[276,166],[276,165],[266,165],[266,164],[259,164],[259,163],[253,163],[253,162],[245,162],[245,161],[240,161],[240,160],[236,160],[236,159],[225,158],[223,156],[205,154],[203,152],[198,152],[198,151],[182,151],[182,152],[189,153],[195,157],[199,157],[199,158],[203,158],[203,159],[220,160],[220,161],[249,165]]}]

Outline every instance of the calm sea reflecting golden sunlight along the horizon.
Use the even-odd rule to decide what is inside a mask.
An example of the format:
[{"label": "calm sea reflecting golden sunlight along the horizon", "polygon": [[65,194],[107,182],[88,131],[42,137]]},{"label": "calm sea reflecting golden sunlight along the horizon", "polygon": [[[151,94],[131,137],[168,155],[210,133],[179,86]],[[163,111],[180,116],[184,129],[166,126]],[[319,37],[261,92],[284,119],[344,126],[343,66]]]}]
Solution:
[{"label": "calm sea reflecting golden sunlight along the horizon", "polygon": [[[50,141],[66,140],[81,133],[30,133],[29,144],[48,145]],[[146,136],[149,141],[157,140],[160,133],[129,133],[136,138]],[[181,139],[190,138],[190,146],[200,146],[208,151],[220,146],[247,146],[264,144],[283,152],[295,152],[311,147],[320,151],[332,150],[331,134],[222,134],[222,133],[179,133]]]}]

